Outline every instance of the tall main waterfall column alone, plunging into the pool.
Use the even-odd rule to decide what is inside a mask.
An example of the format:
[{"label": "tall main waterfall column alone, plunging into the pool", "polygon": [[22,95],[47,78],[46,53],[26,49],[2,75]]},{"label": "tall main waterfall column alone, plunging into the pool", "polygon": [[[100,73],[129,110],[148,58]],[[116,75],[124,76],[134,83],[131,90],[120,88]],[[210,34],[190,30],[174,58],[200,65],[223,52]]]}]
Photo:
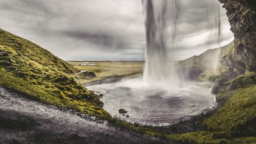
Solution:
[{"label": "tall main waterfall column alone, plunging into the pool", "polygon": [[[178,37],[177,19],[179,18],[179,0],[173,1],[148,0],[146,7],[146,38],[147,49],[145,51],[146,66],[144,81],[148,83],[163,82],[169,77],[168,56],[166,49],[166,35],[168,35],[170,22],[172,27],[172,44]],[[175,19],[170,19],[174,16]]]}]

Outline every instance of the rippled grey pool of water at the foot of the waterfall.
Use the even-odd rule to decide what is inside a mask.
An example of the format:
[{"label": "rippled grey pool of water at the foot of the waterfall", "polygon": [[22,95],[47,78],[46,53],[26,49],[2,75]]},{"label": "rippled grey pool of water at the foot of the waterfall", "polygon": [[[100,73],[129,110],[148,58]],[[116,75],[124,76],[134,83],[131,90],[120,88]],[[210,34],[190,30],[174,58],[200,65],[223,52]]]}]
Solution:
[{"label": "rippled grey pool of water at the foot of the waterfall", "polygon": [[[189,81],[176,88],[168,88],[168,84],[163,87],[144,86],[140,78],[86,86],[104,95],[103,108],[112,116],[146,125],[172,124],[215,104],[211,83]],[[120,114],[119,109],[128,113]]]}]

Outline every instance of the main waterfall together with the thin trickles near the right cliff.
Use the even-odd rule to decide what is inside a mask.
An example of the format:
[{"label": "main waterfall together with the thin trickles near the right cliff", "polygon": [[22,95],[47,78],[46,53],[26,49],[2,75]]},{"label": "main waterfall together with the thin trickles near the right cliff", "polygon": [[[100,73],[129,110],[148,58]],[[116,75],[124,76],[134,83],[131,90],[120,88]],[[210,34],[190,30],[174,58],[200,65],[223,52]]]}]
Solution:
[{"label": "main waterfall together with the thin trickles near the right cliff", "polygon": [[[168,49],[179,43],[179,17],[182,0],[143,0],[145,11],[146,49],[145,70],[143,81],[145,83],[165,83],[177,85],[182,74],[177,72],[175,60],[168,56]],[[186,0],[183,0],[186,1]],[[207,0],[201,0],[202,3]],[[216,3],[215,3],[216,5]],[[214,10],[216,10],[216,7]],[[212,4],[205,3],[205,9],[211,9]],[[186,11],[186,10],[182,10]],[[211,10],[212,11],[212,10]],[[212,16],[214,13],[214,17]],[[217,40],[220,41],[220,8],[211,12],[209,23],[211,27],[218,27]],[[214,20],[212,20],[214,19]],[[212,29],[212,28],[211,28]],[[171,58],[170,58],[171,57]]]}]

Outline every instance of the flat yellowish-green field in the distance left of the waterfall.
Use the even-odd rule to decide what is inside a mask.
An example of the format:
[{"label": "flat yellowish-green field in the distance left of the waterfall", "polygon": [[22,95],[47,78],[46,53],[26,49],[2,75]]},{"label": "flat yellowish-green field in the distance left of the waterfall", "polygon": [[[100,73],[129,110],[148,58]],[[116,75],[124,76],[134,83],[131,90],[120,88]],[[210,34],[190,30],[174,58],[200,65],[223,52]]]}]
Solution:
[{"label": "flat yellowish-green field in the distance left of the waterfall", "polygon": [[106,79],[120,77],[142,76],[143,61],[68,61],[79,70],[94,72],[97,77],[83,77],[76,74],[74,77],[79,83],[92,83],[93,81],[104,81]]}]

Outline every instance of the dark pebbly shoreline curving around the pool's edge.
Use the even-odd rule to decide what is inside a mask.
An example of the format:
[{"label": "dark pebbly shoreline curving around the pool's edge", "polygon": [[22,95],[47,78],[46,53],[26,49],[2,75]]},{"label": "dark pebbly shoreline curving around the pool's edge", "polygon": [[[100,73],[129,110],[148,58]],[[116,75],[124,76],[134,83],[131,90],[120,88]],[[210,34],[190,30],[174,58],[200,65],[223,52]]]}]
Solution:
[{"label": "dark pebbly shoreline curving around the pool's edge", "polygon": [[[121,81],[124,79],[125,76],[120,76],[120,77],[115,77],[111,76],[110,79],[104,79],[104,80],[99,80],[99,81],[93,81],[92,83],[87,83],[84,84],[84,86],[92,86],[96,84],[106,84],[106,83],[117,83],[118,81]],[[216,95],[214,95],[214,105],[212,105],[209,108],[204,109],[197,115],[192,115],[192,116],[184,116],[182,118],[179,118],[177,122],[171,123],[171,124],[163,124],[163,125],[145,125],[145,124],[140,124],[136,122],[129,122],[131,124],[134,124],[139,127],[143,128],[149,128],[154,131],[164,133],[164,134],[182,134],[182,133],[187,133],[187,132],[195,132],[195,131],[206,131],[207,129],[203,126],[200,125],[203,120],[212,114],[216,113],[216,111],[223,105],[220,100],[217,99]],[[121,120],[124,122],[128,122],[125,119],[118,118],[118,117],[113,117],[117,120]],[[111,124],[110,124],[111,125]],[[111,125],[117,128],[122,128],[120,125]],[[123,127],[124,128],[124,127]]]}]

